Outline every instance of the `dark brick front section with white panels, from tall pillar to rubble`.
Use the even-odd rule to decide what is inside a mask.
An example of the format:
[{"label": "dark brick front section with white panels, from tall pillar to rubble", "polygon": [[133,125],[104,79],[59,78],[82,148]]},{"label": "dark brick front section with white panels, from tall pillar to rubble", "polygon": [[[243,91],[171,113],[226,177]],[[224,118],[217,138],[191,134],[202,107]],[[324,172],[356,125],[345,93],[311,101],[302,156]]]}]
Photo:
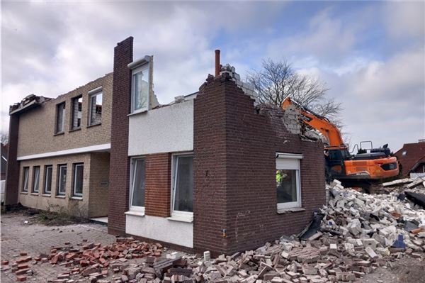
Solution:
[{"label": "dark brick front section with white panels, from tall pillar to rubble", "polygon": [[157,106],[152,65],[115,47],[109,233],[229,254],[300,232],[324,204],[322,143],[232,72]]}]

